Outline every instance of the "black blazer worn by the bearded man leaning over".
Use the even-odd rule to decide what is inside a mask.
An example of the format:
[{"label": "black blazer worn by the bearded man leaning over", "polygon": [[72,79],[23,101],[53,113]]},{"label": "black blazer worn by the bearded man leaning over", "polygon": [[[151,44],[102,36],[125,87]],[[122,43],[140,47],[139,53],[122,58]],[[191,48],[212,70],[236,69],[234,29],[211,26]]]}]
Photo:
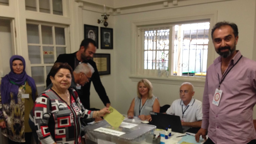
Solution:
[{"label": "black blazer worn by the bearded man leaning over", "polygon": [[[70,54],[60,54],[55,62],[63,62],[63,63],[68,63],[72,69],[75,69],[75,60],[76,60],[76,53],[70,53]],[[91,66],[94,68],[94,73],[91,76],[91,80],[89,83],[86,83],[84,86],[81,87],[81,89],[78,89],[78,96],[83,104],[83,106],[86,109],[90,109],[90,88],[91,88],[91,82],[93,83],[93,86],[95,88],[95,91],[98,93],[99,98],[101,101],[104,103],[106,106],[107,103],[110,103],[107,93],[105,91],[105,88],[103,87],[100,77],[99,77],[99,72],[96,66],[96,63],[89,59],[88,61],[83,61],[84,63],[89,63]],[[48,74],[47,79],[46,79],[46,86],[50,85],[51,80],[50,80],[50,75]]]}]

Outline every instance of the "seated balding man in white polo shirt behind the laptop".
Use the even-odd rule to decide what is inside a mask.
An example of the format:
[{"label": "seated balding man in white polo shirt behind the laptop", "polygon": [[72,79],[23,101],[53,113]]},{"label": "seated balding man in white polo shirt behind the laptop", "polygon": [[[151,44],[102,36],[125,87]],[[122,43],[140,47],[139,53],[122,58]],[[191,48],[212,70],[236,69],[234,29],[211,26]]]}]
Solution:
[{"label": "seated balding man in white polo shirt behind the laptop", "polygon": [[194,86],[185,82],[180,87],[180,98],[175,100],[166,111],[169,115],[178,115],[183,126],[201,127],[202,124],[202,102],[192,98]]}]

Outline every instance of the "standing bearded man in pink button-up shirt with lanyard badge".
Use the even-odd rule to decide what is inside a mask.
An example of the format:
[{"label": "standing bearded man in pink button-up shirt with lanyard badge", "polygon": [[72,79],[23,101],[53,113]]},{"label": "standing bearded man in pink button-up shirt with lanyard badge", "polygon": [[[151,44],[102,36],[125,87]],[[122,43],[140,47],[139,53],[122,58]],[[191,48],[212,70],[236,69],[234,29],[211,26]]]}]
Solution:
[{"label": "standing bearded man in pink button-up shirt with lanyard badge", "polygon": [[235,23],[219,22],[211,31],[220,55],[207,70],[203,94],[203,120],[195,135],[205,144],[255,144],[253,107],[256,103],[256,62],[236,50]]}]

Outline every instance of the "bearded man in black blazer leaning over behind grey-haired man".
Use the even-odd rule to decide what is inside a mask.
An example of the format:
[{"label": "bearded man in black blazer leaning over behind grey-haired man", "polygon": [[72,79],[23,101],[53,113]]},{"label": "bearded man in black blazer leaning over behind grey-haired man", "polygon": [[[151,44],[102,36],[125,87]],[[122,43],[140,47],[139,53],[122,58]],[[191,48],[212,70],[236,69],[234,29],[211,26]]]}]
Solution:
[{"label": "bearded man in black blazer leaning over behind grey-haired man", "polygon": [[[86,109],[90,109],[90,87],[91,82],[94,85],[96,92],[106,107],[110,106],[110,101],[106,94],[105,88],[103,87],[96,63],[91,60],[94,53],[96,52],[97,44],[92,39],[84,39],[81,42],[80,49],[75,53],[60,54],[55,62],[67,62],[74,70],[80,63],[89,63],[94,68],[94,73],[89,81],[84,86],[77,86],[78,96]],[[46,86],[50,85],[50,76],[47,76]]]}]

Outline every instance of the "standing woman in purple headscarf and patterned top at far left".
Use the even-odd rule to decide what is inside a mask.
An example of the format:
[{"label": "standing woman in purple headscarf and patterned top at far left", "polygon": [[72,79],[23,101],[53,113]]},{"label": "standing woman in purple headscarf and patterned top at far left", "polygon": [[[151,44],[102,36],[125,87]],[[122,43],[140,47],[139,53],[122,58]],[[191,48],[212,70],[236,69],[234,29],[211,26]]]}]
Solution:
[{"label": "standing woman in purple headscarf and patterned top at far left", "polygon": [[28,121],[37,88],[34,79],[26,74],[25,66],[22,56],[12,56],[11,72],[1,80],[0,128],[9,138],[9,144],[31,144],[32,130]]}]

